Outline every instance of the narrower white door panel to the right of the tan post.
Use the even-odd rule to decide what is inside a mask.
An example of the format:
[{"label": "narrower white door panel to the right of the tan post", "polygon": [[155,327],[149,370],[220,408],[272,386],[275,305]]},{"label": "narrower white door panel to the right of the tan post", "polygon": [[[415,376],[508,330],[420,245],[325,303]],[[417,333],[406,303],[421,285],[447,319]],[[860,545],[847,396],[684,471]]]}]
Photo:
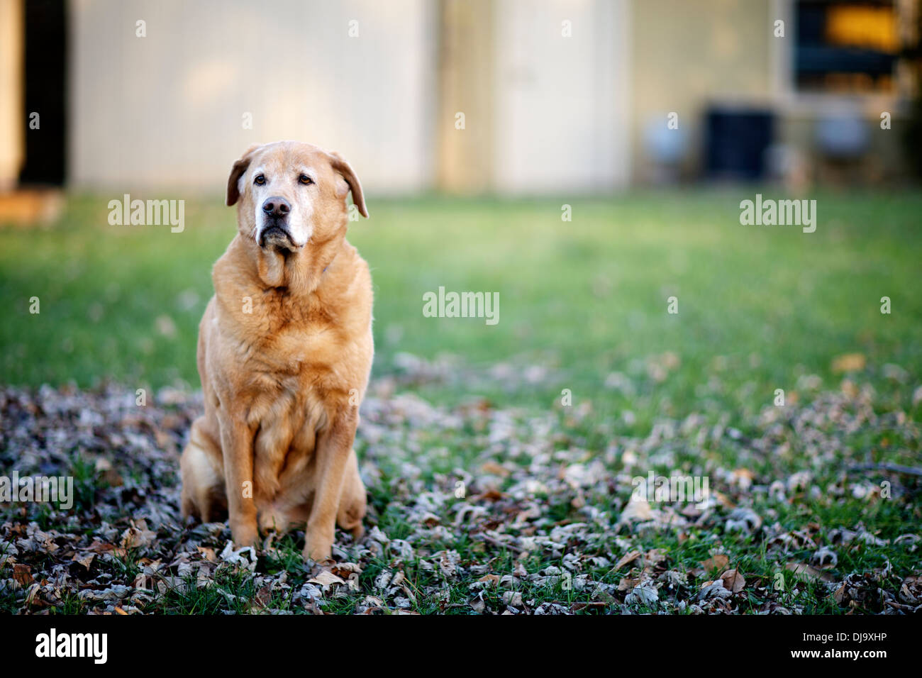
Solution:
[{"label": "narrower white door panel to the right of the tan post", "polygon": [[630,167],[627,0],[498,0],[500,192],[605,192]]}]

